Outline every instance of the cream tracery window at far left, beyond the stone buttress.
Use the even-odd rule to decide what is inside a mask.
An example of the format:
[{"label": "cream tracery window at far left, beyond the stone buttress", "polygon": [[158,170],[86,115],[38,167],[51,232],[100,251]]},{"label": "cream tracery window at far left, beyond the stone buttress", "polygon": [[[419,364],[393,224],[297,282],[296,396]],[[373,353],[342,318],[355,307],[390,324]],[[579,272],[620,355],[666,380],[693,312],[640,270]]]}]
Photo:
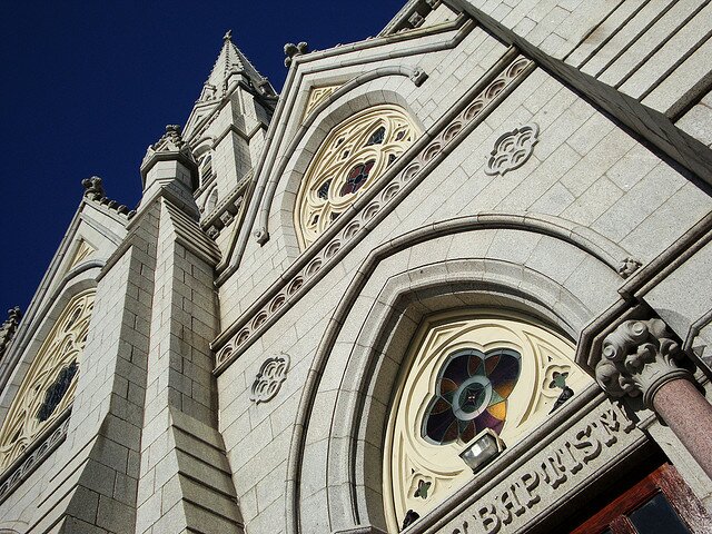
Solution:
[{"label": "cream tracery window at far left, beyond the stone buttress", "polygon": [[71,404],[95,294],[71,298],[34,356],[0,429],[0,473]]}]

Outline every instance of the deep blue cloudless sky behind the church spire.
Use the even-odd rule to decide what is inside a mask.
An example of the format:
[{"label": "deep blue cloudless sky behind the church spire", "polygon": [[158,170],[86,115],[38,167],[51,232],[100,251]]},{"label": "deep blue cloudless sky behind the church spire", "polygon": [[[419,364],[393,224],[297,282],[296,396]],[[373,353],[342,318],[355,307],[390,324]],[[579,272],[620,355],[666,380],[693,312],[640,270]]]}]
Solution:
[{"label": "deep blue cloudless sky behind the church spire", "polygon": [[81,180],[134,207],[140,161],[185,123],[234,41],[281,90],[285,42],[330,48],[375,36],[405,0],[10,2],[0,20],[0,323],[30,303],[81,198]]}]

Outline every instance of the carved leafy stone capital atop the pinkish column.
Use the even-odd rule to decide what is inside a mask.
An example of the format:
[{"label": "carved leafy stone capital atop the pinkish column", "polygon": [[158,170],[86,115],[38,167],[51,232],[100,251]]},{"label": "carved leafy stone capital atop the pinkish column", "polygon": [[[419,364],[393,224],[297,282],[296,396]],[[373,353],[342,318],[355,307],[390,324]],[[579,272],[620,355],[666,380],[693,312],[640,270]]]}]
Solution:
[{"label": "carved leafy stone capital atop the pinkish column", "polygon": [[626,320],[603,340],[596,380],[612,397],[642,394],[645,405],[652,408],[662,385],[691,377],[678,366],[683,356],[663,320]]}]

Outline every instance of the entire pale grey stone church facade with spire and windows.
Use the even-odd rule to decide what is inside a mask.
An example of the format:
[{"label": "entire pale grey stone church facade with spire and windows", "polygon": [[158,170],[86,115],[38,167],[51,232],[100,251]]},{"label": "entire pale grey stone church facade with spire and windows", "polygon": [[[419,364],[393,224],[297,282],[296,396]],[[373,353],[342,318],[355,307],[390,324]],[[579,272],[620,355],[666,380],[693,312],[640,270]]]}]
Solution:
[{"label": "entire pale grey stone church facade with spire and windows", "polygon": [[279,96],[228,32],[0,328],[0,532],[712,532],[711,22],[411,0]]}]

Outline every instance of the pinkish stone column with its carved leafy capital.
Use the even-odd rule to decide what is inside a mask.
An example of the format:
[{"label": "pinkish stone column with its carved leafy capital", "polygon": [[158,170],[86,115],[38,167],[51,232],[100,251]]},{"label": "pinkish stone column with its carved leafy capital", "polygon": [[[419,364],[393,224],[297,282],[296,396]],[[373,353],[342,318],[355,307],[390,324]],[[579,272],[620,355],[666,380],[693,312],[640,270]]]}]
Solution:
[{"label": "pinkish stone column with its carved leafy capital", "polygon": [[683,358],[661,319],[626,320],[603,340],[596,379],[612,397],[642,395],[712,478],[712,406]]}]

